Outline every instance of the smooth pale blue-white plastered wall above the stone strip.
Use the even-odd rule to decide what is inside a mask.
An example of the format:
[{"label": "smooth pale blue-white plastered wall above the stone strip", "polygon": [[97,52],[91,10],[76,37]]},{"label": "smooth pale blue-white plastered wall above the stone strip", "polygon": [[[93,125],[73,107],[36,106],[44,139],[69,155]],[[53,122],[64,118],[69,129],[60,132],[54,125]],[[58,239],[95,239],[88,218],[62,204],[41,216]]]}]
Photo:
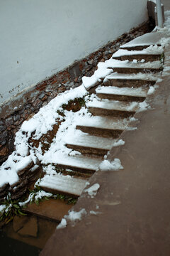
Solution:
[{"label": "smooth pale blue-white plastered wall above the stone strip", "polygon": [[1,102],[146,20],[147,0],[1,0]]}]

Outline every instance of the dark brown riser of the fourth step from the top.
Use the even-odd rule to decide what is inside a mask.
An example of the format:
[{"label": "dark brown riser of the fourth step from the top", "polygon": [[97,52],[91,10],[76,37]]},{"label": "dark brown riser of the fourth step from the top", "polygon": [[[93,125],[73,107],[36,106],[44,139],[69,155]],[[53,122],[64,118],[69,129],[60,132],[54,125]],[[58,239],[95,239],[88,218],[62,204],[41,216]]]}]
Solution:
[{"label": "dark brown riser of the fourth step from the top", "polygon": [[154,85],[155,81],[148,80],[130,80],[130,79],[108,79],[107,82],[103,83],[104,86],[116,86],[116,87],[141,87]]}]

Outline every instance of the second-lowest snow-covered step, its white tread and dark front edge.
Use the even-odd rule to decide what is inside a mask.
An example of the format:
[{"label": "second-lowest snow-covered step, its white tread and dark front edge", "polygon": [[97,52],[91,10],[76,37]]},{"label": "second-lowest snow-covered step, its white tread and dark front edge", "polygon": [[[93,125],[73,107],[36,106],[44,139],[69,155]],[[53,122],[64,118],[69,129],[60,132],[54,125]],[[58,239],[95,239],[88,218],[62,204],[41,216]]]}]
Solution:
[{"label": "second-lowest snow-covered step, its white tread and dark front edge", "polygon": [[42,164],[55,164],[59,168],[72,169],[74,171],[95,172],[98,171],[98,166],[102,159],[96,159],[86,156],[68,156],[67,154],[52,154],[47,161],[42,161]]}]

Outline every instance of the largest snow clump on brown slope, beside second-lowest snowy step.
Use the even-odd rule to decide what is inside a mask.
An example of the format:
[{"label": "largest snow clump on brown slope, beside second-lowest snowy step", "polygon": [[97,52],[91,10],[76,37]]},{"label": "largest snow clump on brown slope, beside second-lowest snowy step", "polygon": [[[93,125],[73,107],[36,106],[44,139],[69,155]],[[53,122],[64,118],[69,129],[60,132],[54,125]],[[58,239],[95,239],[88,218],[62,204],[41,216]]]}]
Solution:
[{"label": "largest snow clump on brown slope, beside second-lowest snowy step", "polygon": [[123,169],[123,166],[120,162],[120,159],[114,159],[114,161],[111,162],[105,159],[101,162],[99,168],[101,171],[118,171]]}]

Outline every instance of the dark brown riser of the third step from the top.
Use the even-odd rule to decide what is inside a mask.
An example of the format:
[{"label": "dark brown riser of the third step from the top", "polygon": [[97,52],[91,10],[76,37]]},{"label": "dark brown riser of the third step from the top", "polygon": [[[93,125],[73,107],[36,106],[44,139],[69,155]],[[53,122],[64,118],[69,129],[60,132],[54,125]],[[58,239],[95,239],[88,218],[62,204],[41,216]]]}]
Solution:
[{"label": "dark brown riser of the third step from the top", "polygon": [[120,74],[137,74],[137,73],[158,73],[162,68],[114,68],[114,72]]}]

